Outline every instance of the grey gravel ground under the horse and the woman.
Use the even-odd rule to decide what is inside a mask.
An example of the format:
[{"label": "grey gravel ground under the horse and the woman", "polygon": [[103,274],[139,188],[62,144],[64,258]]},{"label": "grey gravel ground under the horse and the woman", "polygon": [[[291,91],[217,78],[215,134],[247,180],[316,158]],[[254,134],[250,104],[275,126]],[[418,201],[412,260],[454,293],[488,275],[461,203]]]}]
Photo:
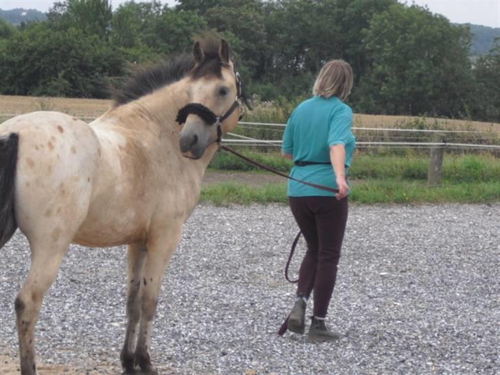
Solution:
[{"label": "grey gravel ground under the horse and the woman", "polygon": [[[277,335],[294,301],[288,208],[201,205],[163,283],[152,359],[162,374],[500,374],[499,222],[499,204],[353,205],[328,320],[342,339],[312,345]],[[29,262],[18,232],[0,253],[0,355],[14,361]],[[45,297],[38,360],[119,374],[125,274],[123,247],[71,247]]]}]

